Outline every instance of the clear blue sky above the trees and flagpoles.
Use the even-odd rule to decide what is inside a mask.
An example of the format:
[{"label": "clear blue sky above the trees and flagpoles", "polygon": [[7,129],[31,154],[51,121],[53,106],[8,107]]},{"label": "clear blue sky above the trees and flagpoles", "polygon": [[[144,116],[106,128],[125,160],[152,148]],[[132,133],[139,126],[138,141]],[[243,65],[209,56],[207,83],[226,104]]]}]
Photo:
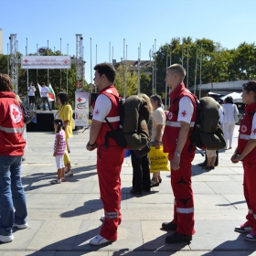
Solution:
[{"label": "clear blue sky above the trees and flagpoles", "polygon": [[146,60],[153,45],[157,50],[173,37],[205,37],[229,49],[254,43],[256,37],[255,0],[0,0],[0,6],[5,54],[10,34],[16,34],[23,55],[26,45],[28,53],[47,46],[60,50],[61,45],[67,54],[69,44],[73,56],[75,34],[82,34],[88,82],[96,45],[100,63],[110,56],[121,61],[123,39],[124,58],[138,59],[141,44],[141,59]]}]

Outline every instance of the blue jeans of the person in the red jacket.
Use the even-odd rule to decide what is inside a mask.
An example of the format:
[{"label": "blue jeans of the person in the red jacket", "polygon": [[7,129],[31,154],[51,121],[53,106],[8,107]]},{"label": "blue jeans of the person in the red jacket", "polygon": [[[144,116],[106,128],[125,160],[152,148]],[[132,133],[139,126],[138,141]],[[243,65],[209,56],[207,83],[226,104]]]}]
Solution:
[{"label": "blue jeans of the person in the red jacket", "polygon": [[22,155],[0,155],[1,236],[12,235],[14,223],[27,223],[26,195],[20,176],[21,161]]}]

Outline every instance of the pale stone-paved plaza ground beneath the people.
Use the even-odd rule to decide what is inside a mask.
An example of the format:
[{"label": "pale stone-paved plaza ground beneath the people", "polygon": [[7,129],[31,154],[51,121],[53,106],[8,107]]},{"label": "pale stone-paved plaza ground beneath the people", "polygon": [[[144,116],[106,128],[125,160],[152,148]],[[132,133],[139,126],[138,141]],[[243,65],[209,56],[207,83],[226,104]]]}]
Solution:
[{"label": "pale stone-paved plaza ground beneath the people", "polygon": [[[28,124],[29,125],[29,124]],[[233,148],[237,144],[238,128]],[[176,245],[165,244],[168,232],[160,229],[172,220],[174,197],[170,175],[162,172],[163,182],[151,193],[133,196],[131,160],[122,169],[123,222],[118,240],[107,246],[93,247],[89,240],[101,229],[103,214],[96,170],[96,151],[85,145],[89,131],[74,132],[69,140],[70,159],[75,175],[61,185],[50,185],[57,175],[52,156],[54,133],[27,133],[27,161],[22,164],[27,194],[28,228],[14,230],[11,243],[0,243],[0,256],[167,256],[256,255],[256,243],[245,241],[234,232],[245,220],[247,205],[243,197],[243,170],[233,165],[233,149],[220,151],[219,166],[204,171],[193,162],[193,189],[197,233],[193,240]],[[170,232],[169,232],[170,233]],[[255,251],[255,252],[254,252]]]}]

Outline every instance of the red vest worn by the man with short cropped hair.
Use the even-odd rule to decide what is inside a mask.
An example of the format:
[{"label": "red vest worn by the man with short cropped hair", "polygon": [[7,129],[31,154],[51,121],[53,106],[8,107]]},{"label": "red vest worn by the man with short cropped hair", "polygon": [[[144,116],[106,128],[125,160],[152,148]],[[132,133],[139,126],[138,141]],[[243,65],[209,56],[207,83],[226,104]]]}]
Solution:
[{"label": "red vest worn by the man with short cropped hair", "polygon": [[[177,122],[178,116],[178,104],[181,98],[189,97],[194,106],[194,112],[191,118],[190,129],[192,130],[196,121],[197,104],[194,96],[188,91],[184,83],[180,83],[174,91],[170,93],[171,106],[169,108],[168,115],[166,116],[165,132],[163,135],[163,144],[165,153],[174,153],[176,151],[176,144],[178,139],[178,133],[180,130],[180,123]],[[184,145],[183,151],[187,150],[190,145],[189,133],[187,134],[187,142]]]}]

